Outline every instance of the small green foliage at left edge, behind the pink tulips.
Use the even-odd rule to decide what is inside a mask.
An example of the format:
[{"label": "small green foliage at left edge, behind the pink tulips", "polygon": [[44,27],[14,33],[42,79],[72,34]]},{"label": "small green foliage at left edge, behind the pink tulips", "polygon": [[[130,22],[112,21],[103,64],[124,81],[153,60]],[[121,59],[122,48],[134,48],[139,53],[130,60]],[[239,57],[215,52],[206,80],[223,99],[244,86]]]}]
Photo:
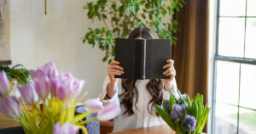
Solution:
[{"label": "small green foliage at left edge, behind the pink tulips", "polygon": [[0,64],[0,71],[4,70],[8,75],[9,81],[11,79],[17,79],[18,83],[23,86],[31,80],[31,75],[22,64],[17,64],[14,67],[10,68],[8,65]]}]

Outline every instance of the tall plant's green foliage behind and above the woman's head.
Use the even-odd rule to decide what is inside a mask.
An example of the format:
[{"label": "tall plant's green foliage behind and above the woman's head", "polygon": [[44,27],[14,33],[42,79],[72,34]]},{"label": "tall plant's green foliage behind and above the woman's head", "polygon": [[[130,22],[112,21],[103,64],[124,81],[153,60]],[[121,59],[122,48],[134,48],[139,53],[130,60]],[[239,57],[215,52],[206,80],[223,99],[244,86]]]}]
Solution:
[{"label": "tall plant's green foliage behind and above the woman's head", "polygon": [[139,26],[153,29],[160,38],[171,38],[175,45],[178,22],[172,16],[183,8],[183,4],[183,0],[97,0],[86,3],[87,17],[103,22],[104,27],[88,28],[83,42],[92,47],[98,45],[105,51],[102,60],[108,62],[114,56],[114,38],[125,38]]}]

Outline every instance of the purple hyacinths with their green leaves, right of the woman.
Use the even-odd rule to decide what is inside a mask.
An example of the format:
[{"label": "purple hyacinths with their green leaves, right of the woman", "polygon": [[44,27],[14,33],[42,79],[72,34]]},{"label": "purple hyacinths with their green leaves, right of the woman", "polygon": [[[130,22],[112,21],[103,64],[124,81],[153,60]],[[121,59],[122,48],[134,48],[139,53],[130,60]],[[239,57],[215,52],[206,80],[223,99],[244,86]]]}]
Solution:
[{"label": "purple hyacinths with their green leaves, right of the woman", "polygon": [[171,92],[170,99],[163,106],[157,105],[155,111],[177,134],[200,134],[207,122],[209,108],[203,105],[203,96],[199,93],[194,100],[178,91],[178,98]]}]

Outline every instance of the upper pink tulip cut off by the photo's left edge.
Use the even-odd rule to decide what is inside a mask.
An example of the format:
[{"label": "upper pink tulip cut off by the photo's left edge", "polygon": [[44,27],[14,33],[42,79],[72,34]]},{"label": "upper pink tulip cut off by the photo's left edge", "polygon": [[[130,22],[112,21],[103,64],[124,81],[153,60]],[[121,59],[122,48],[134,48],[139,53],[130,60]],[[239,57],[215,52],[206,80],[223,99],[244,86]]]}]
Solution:
[{"label": "upper pink tulip cut off by the photo's left edge", "polygon": [[8,79],[5,71],[3,70],[0,73],[0,97],[8,95],[9,89],[10,89],[9,79]]}]

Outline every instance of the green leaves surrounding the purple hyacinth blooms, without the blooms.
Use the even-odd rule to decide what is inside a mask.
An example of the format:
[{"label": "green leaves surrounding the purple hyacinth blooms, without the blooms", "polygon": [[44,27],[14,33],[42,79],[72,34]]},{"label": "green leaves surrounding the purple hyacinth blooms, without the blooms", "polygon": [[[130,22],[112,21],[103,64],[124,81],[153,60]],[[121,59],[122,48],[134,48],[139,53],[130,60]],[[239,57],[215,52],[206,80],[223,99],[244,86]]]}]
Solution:
[{"label": "green leaves surrounding the purple hyacinth blooms, without the blooms", "polygon": [[[164,100],[163,106],[165,109],[163,109],[161,106],[157,105],[155,107],[155,112],[157,114],[160,114],[160,116],[163,118],[163,120],[166,121],[168,126],[172,128],[173,131],[176,131],[177,134],[200,134],[203,131],[204,126],[206,125],[207,122],[207,117],[209,114],[210,109],[207,108],[207,105],[203,105],[203,96],[200,95],[199,93],[195,96],[194,100],[189,100],[189,96],[184,94],[186,96],[186,99],[183,99],[181,96],[181,93],[178,92],[179,94],[179,99],[174,96],[174,94],[171,92],[170,96],[170,103],[169,103],[169,108],[167,109],[167,104],[166,100]],[[171,111],[172,111],[172,105],[173,104],[182,104],[182,103],[187,103],[188,104],[188,109],[185,109],[183,107],[183,115],[180,117],[181,121],[177,122],[175,120],[172,120],[170,117]],[[184,126],[183,126],[183,120],[185,116],[193,115],[196,120],[196,126],[195,126],[195,131],[184,131]],[[189,126],[190,128],[190,126]]]}]

